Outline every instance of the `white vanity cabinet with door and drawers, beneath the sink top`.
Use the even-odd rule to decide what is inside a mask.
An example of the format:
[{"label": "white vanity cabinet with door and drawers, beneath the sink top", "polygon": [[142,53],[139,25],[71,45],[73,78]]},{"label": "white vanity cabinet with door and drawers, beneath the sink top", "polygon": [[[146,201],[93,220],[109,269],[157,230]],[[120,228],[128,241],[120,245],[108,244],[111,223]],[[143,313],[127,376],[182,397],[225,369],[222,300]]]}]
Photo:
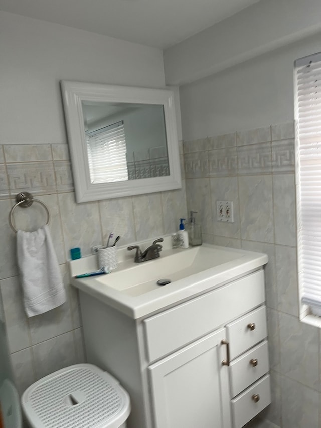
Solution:
[{"label": "white vanity cabinet with door and drawers, beneath the sink top", "polygon": [[88,362],[127,389],[129,428],[241,428],[270,403],[263,269],[136,320],[80,301]]}]

